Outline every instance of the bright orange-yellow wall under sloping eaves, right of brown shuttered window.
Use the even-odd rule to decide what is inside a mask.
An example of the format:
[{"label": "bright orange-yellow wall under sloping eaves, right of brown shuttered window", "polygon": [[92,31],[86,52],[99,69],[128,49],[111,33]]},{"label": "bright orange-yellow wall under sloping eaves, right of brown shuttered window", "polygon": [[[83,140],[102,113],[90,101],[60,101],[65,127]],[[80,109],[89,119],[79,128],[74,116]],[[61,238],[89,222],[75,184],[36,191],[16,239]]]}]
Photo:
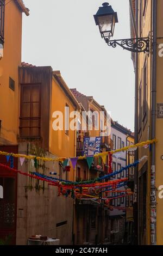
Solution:
[{"label": "bright orange-yellow wall under sloping eaves, right of brown shuttered window", "polygon": [[[66,104],[70,107],[70,112],[75,111],[76,108],[72,102],[65,95],[64,91],[59,86],[58,82],[54,80],[52,82],[52,99],[51,99],[51,121],[50,121],[50,133],[49,133],[49,151],[57,156],[73,157],[76,156],[76,131],[69,130],[69,135],[66,135],[65,129],[63,131],[54,131],[52,129],[52,123],[54,118],[52,114],[54,111],[61,111],[65,113]],[[65,125],[65,123],[64,123]],[[74,180],[74,170],[71,167],[71,172],[68,173],[68,179]]]}]

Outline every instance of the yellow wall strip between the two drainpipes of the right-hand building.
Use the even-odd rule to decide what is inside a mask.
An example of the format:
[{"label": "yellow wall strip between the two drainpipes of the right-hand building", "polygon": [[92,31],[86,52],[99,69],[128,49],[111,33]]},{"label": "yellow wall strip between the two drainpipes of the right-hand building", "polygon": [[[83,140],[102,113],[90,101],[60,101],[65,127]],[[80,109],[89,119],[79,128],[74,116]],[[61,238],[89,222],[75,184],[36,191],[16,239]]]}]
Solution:
[{"label": "yellow wall strip between the two drainpipes of the right-hand building", "polygon": [[[143,1],[142,1],[143,2]],[[139,0],[139,4],[140,4],[140,0]],[[139,5],[140,6],[140,5]],[[146,8],[146,12],[145,12],[145,16],[142,17],[142,34],[139,33],[139,36],[141,37],[147,37],[149,35],[149,32],[152,31],[152,16],[151,16],[151,11],[152,11],[152,1],[148,0],[147,1],[147,8]],[[139,12],[140,13],[140,12]],[[140,16],[139,16],[140,19]],[[139,22],[140,24],[140,22]],[[140,28],[139,28],[140,31]],[[148,106],[147,106],[147,123],[146,125],[143,126],[143,121],[141,122],[141,131],[139,133],[139,142],[142,141],[147,141],[147,139],[149,139],[150,136],[150,126],[151,126],[151,113],[150,113],[150,109],[151,109],[151,59],[152,54],[149,55],[147,53],[139,53],[139,83],[138,86],[140,87],[140,83],[142,81],[142,99],[143,99],[143,66],[145,64],[145,59],[147,58],[147,70],[148,70],[148,90],[147,90],[147,94],[148,94]],[[142,104],[143,104],[143,100],[142,100]],[[142,117],[143,119],[143,117]],[[147,231],[146,231],[146,244],[150,244],[151,243],[151,226],[150,226],[150,209],[151,209],[151,205],[150,205],[150,187],[151,187],[151,176],[150,176],[150,153],[148,149],[145,148],[139,148],[138,150],[138,159],[140,159],[142,156],[147,155],[148,156],[148,170],[147,170]],[[145,164],[145,162],[142,162],[139,164],[138,170],[141,170],[143,164]]]}]

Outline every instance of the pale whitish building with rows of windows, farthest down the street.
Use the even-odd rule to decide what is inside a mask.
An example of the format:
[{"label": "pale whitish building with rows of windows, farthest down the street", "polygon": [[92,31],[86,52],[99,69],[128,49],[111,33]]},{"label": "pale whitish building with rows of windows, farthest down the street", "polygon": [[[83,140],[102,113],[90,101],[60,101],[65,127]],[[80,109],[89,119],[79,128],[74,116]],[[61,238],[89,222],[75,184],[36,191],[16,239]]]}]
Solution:
[{"label": "pale whitish building with rows of windows, farthest down the street", "polygon": [[[121,149],[127,146],[129,142],[129,136],[131,131],[127,128],[123,127],[122,125],[118,124],[118,122],[114,122],[111,125],[111,139],[113,142],[113,150]],[[112,157],[112,172],[114,173],[117,170],[120,170],[123,167],[127,166],[127,151],[122,151],[120,153],[114,154]],[[124,170],[120,174],[116,174],[111,179],[121,179],[121,178],[128,178],[129,170]],[[121,191],[127,190],[127,185],[117,188]],[[112,199],[111,205],[113,209],[110,210],[109,217],[111,220],[111,234],[114,239],[111,239],[112,243],[121,244],[124,243],[124,236],[127,236],[127,227],[126,227],[126,215],[127,212],[125,210],[126,207],[129,207],[129,197],[123,197],[125,192],[115,192],[111,193],[111,197],[115,197]],[[122,197],[121,197],[122,196]],[[118,198],[120,197],[120,198]],[[118,209],[118,207],[123,210]]]}]

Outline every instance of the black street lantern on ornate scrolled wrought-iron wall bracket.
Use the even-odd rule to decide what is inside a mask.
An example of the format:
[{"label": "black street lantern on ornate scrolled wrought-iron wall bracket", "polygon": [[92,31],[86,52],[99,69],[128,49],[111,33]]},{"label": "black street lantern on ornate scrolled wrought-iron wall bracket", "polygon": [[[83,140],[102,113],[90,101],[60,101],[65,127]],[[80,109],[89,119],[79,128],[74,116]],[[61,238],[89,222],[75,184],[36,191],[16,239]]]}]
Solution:
[{"label": "black street lantern on ornate scrolled wrought-iron wall bracket", "polygon": [[108,46],[121,46],[123,49],[130,52],[148,52],[149,53],[149,37],[147,38],[130,38],[110,40],[114,35],[115,23],[118,23],[117,13],[112,9],[109,3],[103,3],[99,7],[96,15],[94,15],[96,25],[99,27],[99,32],[104,38]]}]

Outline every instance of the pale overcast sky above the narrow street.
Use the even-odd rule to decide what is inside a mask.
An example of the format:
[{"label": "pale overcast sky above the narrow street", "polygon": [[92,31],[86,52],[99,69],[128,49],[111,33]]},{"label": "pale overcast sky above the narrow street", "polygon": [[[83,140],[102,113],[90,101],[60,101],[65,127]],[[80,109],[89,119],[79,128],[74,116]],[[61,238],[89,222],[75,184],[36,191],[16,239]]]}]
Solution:
[{"label": "pale overcast sky above the narrow street", "polygon": [[[60,70],[69,88],[93,96],[119,124],[134,131],[131,53],[109,47],[93,15],[103,0],[24,0],[22,61]],[[109,0],[118,23],[112,39],[130,38],[129,1]]]}]

